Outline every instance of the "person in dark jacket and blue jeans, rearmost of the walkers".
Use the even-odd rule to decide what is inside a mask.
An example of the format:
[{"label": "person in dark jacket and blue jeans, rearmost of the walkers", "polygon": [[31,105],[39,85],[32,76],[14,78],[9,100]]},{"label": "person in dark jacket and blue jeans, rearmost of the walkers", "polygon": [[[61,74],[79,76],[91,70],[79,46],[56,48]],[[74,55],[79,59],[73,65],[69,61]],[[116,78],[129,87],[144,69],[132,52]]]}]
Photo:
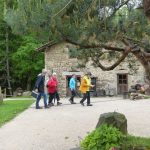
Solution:
[{"label": "person in dark jacket and blue jeans, rearmost of the walkers", "polygon": [[41,100],[41,97],[44,98],[44,107],[48,108],[47,105],[47,95],[45,93],[45,75],[47,71],[45,69],[42,70],[42,73],[38,75],[37,81],[35,83],[35,91],[39,93],[36,99],[36,109],[40,109],[39,101]]}]

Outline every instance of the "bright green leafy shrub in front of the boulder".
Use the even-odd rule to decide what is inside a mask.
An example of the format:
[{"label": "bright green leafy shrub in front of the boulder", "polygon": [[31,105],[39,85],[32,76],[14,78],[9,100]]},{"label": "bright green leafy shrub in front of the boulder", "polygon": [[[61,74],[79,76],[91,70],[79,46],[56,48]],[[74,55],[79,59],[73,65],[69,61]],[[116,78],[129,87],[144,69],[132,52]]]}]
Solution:
[{"label": "bright green leafy shrub in front of the boulder", "polygon": [[119,148],[122,139],[123,134],[117,128],[104,124],[85,137],[80,147],[82,150],[110,150]]}]

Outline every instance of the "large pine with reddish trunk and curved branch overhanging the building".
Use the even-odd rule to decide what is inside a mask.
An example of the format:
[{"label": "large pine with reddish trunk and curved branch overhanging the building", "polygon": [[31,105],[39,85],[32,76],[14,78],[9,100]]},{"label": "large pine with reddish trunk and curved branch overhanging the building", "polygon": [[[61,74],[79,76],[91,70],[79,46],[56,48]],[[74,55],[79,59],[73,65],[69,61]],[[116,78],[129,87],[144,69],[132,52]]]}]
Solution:
[{"label": "large pine with reddish trunk and curved branch overhanging the building", "polygon": [[[20,0],[6,20],[16,33],[78,45],[104,71],[132,54],[150,81],[150,23],[141,8],[140,0]],[[101,63],[106,50],[117,55],[111,66]]]}]

